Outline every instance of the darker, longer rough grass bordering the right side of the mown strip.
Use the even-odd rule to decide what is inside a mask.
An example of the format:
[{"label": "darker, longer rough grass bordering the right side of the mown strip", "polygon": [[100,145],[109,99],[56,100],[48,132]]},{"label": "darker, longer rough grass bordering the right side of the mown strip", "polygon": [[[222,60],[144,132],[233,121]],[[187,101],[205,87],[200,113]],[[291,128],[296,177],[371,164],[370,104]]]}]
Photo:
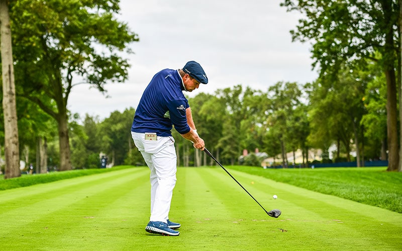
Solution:
[{"label": "darker, longer rough grass bordering the right side of the mown strip", "polygon": [[262,169],[230,166],[229,168],[402,213],[400,189],[402,173],[385,172],[386,167]]}]

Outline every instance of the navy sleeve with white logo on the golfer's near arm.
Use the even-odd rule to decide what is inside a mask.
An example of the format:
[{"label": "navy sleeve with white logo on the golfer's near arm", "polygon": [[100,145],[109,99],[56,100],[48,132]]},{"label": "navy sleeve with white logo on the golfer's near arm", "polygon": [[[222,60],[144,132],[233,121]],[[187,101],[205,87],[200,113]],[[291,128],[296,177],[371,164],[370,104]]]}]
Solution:
[{"label": "navy sleeve with white logo on the golfer's near arm", "polygon": [[169,109],[170,120],[174,125],[174,129],[179,134],[190,132],[190,127],[187,123],[185,109],[189,107],[187,100],[171,100],[167,107]]}]

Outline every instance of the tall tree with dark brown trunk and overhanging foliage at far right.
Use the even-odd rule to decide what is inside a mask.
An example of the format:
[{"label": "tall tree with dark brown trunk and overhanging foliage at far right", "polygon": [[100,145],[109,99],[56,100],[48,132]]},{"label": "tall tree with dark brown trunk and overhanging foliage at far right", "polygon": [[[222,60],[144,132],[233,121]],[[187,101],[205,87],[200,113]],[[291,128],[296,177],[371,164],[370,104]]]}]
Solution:
[{"label": "tall tree with dark brown trunk and overhanging foliage at far right", "polygon": [[288,11],[305,15],[299,20],[293,41],[313,42],[313,67],[320,67],[320,75],[336,77],[346,63],[363,67],[366,60],[377,63],[387,83],[387,143],[388,171],[397,170],[399,164],[395,63],[398,53],[399,9],[396,1],[318,1],[284,0]]}]

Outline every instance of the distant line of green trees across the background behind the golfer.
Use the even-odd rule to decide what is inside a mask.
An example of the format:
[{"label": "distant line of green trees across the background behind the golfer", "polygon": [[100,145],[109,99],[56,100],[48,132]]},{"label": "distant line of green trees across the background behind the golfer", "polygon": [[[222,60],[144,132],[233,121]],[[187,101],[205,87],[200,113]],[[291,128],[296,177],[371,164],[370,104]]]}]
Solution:
[{"label": "distant line of green trees across the background behind the golfer", "polygon": [[[362,166],[364,160],[387,159],[386,87],[382,73],[373,76],[372,72],[345,69],[331,88],[323,87],[320,79],[306,84],[277,82],[265,91],[235,85],[214,94],[201,92],[189,98],[189,104],[194,107],[192,116],[200,137],[223,164],[239,164],[243,149],[259,149],[268,156],[280,156],[280,165],[291,166],[294,163],[285,158],[286,153],[302,149],[303,163],[296,164],[307,166],[308,151],[314,148],[323,150],[323,162],[357,161]],[[112,166],[145,165],[131,138],[134,113],[130,107],[103,120],[72,114],[68,124],[72,169],[99,168],[100,153]],[[39,126],[41,134],[34,133],[28,141],[20,137],[24,140],[21,159],[36,163],[39,172],[60,165],[57,126],[52,118],[45,118]],[[24,122],[19,120],[19,125]],[[24,124],[31,132],[37,126]],[[215,164],[174,129],[172,133],[179,166]],[[332,145],[336,151],[329,159]],[[350,155],[352,151],[356,158]],[[43,159],[47,163],[40,163]]]}]

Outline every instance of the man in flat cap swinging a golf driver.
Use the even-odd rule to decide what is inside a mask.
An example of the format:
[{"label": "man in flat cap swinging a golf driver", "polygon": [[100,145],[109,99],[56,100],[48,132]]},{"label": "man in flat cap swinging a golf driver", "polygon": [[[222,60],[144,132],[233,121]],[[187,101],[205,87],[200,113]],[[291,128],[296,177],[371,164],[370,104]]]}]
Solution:
[{"label": "man in flat cap swinging a golf driver", "polygon": [[151,170],[151,216],[145,230],[162,235],[179,235],[179,223],[169,221],[170,202],[176,184],[176,150],[172,126],[196,149],[204,150],[182,91],[193,91],[207,84],[203,68],[195,61],[182,69],[156,73],[142,94],[134,115],[131,135],[135,146]]}]

